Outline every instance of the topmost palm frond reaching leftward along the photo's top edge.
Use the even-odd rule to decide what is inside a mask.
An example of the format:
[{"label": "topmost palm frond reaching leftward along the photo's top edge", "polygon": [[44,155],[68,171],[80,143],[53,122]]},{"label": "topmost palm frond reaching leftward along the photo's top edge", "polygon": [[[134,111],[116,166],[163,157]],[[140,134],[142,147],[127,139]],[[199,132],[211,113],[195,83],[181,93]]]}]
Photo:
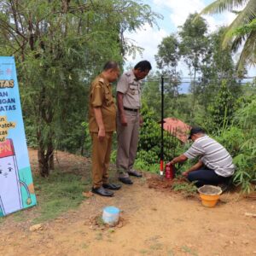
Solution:
[{"label": "topmost palm frond reaching leftward along the photo's top edge", "polygon": [[199,15],[221,14],[226,11],[232,11],[234,8],[239,8],[248,1],[249,0],[217,0],[209,4]]}]

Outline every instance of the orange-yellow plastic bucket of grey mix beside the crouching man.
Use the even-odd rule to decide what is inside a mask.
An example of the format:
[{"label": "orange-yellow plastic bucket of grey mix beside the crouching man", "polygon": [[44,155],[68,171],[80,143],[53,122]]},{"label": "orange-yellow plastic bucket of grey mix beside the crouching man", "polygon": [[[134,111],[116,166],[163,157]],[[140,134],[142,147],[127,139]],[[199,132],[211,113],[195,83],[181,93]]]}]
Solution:
[{"label": "orange-yellow plastic bucket of grey mix beside the crouching man", "polygon": [[204,185],[197,189],[201,197],[201,203],[204,207],[215,207],[219,195],[222,193],[221,188],[212,185]]}]

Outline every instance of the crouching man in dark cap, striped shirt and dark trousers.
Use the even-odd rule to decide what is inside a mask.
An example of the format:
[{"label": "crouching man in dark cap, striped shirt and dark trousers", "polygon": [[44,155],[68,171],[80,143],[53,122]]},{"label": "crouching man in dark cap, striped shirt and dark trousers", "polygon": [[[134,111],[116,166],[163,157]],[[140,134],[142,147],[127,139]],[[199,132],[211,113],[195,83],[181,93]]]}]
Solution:
[{"label": "crouching man in dark cap, striped shirt and dark trousers", "polygon": [[183,172],[184,177],[188,177],[190,182],[195,182],[197,187],[206,184],[227,184],[235,172],[235,166],[226,148],[208,137],[201,127],[191,128],[189,139],[193,141],[189,150],[174,158],[170,164],[199,158],[195,166]]}]

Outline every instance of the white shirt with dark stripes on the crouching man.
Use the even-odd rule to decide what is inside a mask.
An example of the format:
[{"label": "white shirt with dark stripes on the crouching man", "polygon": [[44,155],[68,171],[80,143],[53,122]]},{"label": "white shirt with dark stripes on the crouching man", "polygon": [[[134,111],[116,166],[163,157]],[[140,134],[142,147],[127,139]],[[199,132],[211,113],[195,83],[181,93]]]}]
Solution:
[{"label": "white shirt with dark stripes on the crouching man", "polygon": [[199,156],[204,165],[219,176],[229,177],[235,172],[235,165],[227,149],[207,135],[197,138],[184,155],[189,159]]}]

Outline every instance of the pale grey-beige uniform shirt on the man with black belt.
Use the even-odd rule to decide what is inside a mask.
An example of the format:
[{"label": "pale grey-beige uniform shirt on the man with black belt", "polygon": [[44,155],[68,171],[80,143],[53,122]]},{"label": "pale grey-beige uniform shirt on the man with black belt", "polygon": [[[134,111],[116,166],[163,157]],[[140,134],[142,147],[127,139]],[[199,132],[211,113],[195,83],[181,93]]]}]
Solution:
[{"label": "pale grey-beige uniform shirt on the man with black belt", "polygon": [[124,94],[123,105],[125,108],[141,108],[141,81],[137,81],[131,71],[123,73],[117,84],[117,91]]}]

